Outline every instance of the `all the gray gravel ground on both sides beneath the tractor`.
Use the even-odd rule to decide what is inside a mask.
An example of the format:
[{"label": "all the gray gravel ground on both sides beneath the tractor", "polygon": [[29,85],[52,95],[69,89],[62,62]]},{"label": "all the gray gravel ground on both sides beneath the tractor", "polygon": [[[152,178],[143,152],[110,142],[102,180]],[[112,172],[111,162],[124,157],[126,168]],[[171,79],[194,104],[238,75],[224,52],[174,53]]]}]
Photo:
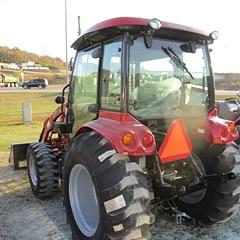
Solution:
[{"label": "all the gray gravel ground on both sides beneath the tractor", "polygon": [[[13,171],[7,154],[0,154],[0,239],[71,239],[62,196],[40,201],[30,191],[25,170]],[[166,213],[156,218],[152,240],[240,240],[240,214],[225,224],[208,228],[193,222],[175,223]]]}]

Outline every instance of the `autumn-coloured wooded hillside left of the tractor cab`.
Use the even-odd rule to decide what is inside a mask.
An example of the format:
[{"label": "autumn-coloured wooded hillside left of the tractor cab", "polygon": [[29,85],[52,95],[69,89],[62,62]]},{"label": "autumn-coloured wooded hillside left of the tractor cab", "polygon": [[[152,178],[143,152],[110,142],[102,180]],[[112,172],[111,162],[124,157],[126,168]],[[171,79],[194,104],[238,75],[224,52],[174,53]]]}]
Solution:
[{"label": "autumn-coloured wooded hillside left of the tractor cab", "polygon": [[64,69],[65,63],[61,58],[53,58],[50,56],[39,56],[36,53],[27,52],[19,48],[0,47],[0,62],[16,63],[35,62],[50,69]]}]

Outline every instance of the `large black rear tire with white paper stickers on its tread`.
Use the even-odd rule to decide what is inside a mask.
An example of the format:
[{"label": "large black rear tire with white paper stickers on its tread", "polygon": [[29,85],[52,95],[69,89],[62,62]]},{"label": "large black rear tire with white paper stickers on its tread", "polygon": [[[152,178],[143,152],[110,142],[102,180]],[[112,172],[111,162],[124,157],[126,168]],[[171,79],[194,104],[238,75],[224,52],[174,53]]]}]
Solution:
[{"label": "large black rear tire with white paper stickers on its tread", "polygon": [[[86,175],[91,176],[98,202],[94,206],[99,206],[99,222],[89,235],[84,233],[85,228],[76,220],[75,204],[71,200],[71,179],[76,168],[85,169]],[[78,204],[83,196],[88,195],[89,188],[81,188]],[[64,168],[64,202],[74,240],[151,239],[149,225],[154,218],[149,198],[146,175],[137,163],[118,154],[95,132],[83,133],[75,139]],[[88,201],[87,197],[83,200]],[[83,211],[89,212],[90,209]]]}]

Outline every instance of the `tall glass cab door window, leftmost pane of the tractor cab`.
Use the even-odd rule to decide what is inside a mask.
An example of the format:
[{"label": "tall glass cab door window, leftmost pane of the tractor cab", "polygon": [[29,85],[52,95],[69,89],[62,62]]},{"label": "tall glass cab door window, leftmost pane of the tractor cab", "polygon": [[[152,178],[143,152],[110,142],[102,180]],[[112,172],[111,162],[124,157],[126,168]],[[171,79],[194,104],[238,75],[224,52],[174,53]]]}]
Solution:
[{"label": "tall glass cab door window, leftmost pane of the tractor cab", "polygon": [[79,52],[74,65],[70,96],[73,114],[73,133],[84,123],[94,119],[95,113],[88,111],[88,106],[97,101],[97,79],[99,59],[92,57],[92,52]]}]

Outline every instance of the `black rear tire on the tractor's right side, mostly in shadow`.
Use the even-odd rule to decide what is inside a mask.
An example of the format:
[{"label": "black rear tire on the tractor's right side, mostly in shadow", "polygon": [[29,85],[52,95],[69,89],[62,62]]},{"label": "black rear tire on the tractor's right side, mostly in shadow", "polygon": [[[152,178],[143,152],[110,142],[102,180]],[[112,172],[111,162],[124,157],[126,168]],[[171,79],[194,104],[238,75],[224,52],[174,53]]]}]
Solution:
[{"label": "black rear tire on the tractor's right side, mostly in shadow", "polygon": [[204,163],[207,174],[224,173],[226,166],[229,171],[226,177],[213,177],[208,179],[208,187],[205,196],[197,203],[190,204],[176,200],[178,208],[194,217],[204,225],[226,222],[231,219],[239,209],[240,199],[240,159],[239,149],[235,144],[229,144],[225,150],[217,156],[222,162],[222,171],[213,165]]}]

